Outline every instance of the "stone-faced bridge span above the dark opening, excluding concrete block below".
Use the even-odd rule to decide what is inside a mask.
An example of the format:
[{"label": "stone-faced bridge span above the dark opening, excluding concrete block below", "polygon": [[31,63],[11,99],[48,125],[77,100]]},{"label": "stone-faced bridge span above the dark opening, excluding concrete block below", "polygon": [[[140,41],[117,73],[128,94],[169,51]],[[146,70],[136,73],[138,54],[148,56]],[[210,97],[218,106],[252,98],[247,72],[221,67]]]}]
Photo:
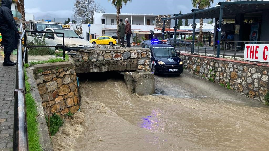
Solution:
[{"label": "stone-faced bridge span above the dark opening, excluding concrete block below", "polygon": [[70,56],[75,61],[76,73],[151,70],[150,49],[80,49]]}]

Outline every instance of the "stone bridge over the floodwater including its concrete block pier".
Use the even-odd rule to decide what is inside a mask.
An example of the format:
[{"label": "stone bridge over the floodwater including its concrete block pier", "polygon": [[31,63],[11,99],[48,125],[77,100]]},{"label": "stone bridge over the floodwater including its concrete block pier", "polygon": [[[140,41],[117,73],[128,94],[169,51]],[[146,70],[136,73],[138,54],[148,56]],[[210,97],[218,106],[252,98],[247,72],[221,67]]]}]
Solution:
[{"label": "stone bridge over the floodwater including its concrete block pier", "polygon": [[149,72],[150,49],[105,45],[95,47],[99,48],[79,49],[70,54],[77,74],[119,71],[124,74],[125,84],[130,91],[139,95],[155,92],[154,74]]}]

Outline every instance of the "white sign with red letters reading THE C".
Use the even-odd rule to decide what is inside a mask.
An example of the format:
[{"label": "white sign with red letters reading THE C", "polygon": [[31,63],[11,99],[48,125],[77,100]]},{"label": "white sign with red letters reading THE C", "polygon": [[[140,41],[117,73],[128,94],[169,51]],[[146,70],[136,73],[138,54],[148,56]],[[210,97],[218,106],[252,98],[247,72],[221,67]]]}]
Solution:
[{"label": "white sign with red letters reading THE C", "polygon": [[269,63],[269,45],[245,44],[244,60]]}]

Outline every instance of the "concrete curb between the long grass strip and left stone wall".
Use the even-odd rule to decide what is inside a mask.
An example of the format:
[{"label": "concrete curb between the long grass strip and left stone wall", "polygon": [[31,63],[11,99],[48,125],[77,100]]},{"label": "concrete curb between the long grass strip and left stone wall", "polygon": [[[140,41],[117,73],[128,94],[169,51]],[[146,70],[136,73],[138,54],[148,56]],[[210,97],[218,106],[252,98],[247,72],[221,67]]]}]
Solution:
[{"label": "concrete curb between the long grass strip and left stone wall", "polygon": [[51,138],[49,137],[49,131],[48,131],[46,118],[45,118],[43,107],[41,104],[41,97],[37,89],[36,80],[33,74],[35,70],[37,70],[36,67],[26,68],[26,74],[29,77],[28,82],[31,87],[30,93],[33,96],[33,99],[35,100],[36,106],[37,106],[36,110],[38,114],[37,122],[39,123],[38,124],[39,141],[40,141],[40,145],[43,151],[53,151]]}]

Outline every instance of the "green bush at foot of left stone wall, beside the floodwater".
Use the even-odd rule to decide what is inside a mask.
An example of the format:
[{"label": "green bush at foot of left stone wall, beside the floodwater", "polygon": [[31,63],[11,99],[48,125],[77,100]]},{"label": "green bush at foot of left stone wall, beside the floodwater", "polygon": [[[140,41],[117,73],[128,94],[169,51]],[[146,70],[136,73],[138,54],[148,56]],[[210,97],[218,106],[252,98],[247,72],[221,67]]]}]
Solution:
[{"label": "green bush at foot of left stone wall, beside the floodwater", "polygon": [[[46,116],[46,120],[48,124],[47,116]],[[59,115],[54,113],[51,117],[49,117],[49,124],[50,124],[50,133],[51,133],[51,136],[53,136],[58,132],[59,127],[63,125],[63,120],[61,119]]]}]

